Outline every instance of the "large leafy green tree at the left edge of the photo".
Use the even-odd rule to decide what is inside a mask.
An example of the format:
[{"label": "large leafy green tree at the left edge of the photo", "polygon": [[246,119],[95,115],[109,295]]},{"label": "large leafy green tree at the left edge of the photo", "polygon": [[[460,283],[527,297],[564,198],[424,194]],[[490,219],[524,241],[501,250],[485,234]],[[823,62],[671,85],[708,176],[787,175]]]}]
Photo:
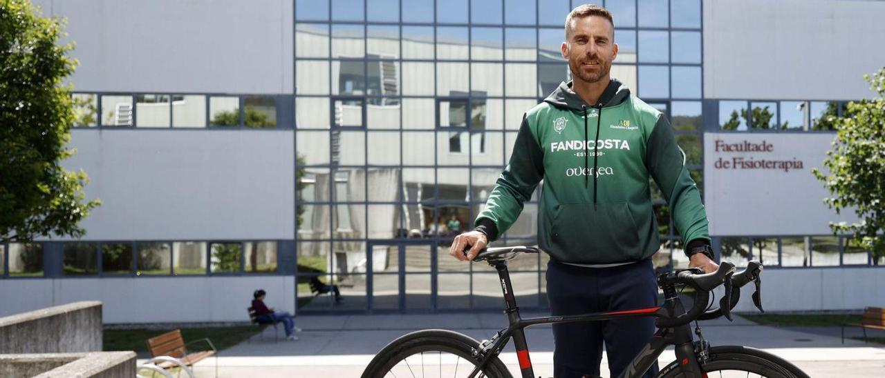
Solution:
[{"label": "large leafy green tree at the left edge of the photo", "polygon": [[50,234],[79,238],[77,223],[98,200],[83,202],[86,173],[59,162],[74,121],[73,43],[59,45],[63,20],[46,19],[27,0],[0,6],[0,241]]}]

